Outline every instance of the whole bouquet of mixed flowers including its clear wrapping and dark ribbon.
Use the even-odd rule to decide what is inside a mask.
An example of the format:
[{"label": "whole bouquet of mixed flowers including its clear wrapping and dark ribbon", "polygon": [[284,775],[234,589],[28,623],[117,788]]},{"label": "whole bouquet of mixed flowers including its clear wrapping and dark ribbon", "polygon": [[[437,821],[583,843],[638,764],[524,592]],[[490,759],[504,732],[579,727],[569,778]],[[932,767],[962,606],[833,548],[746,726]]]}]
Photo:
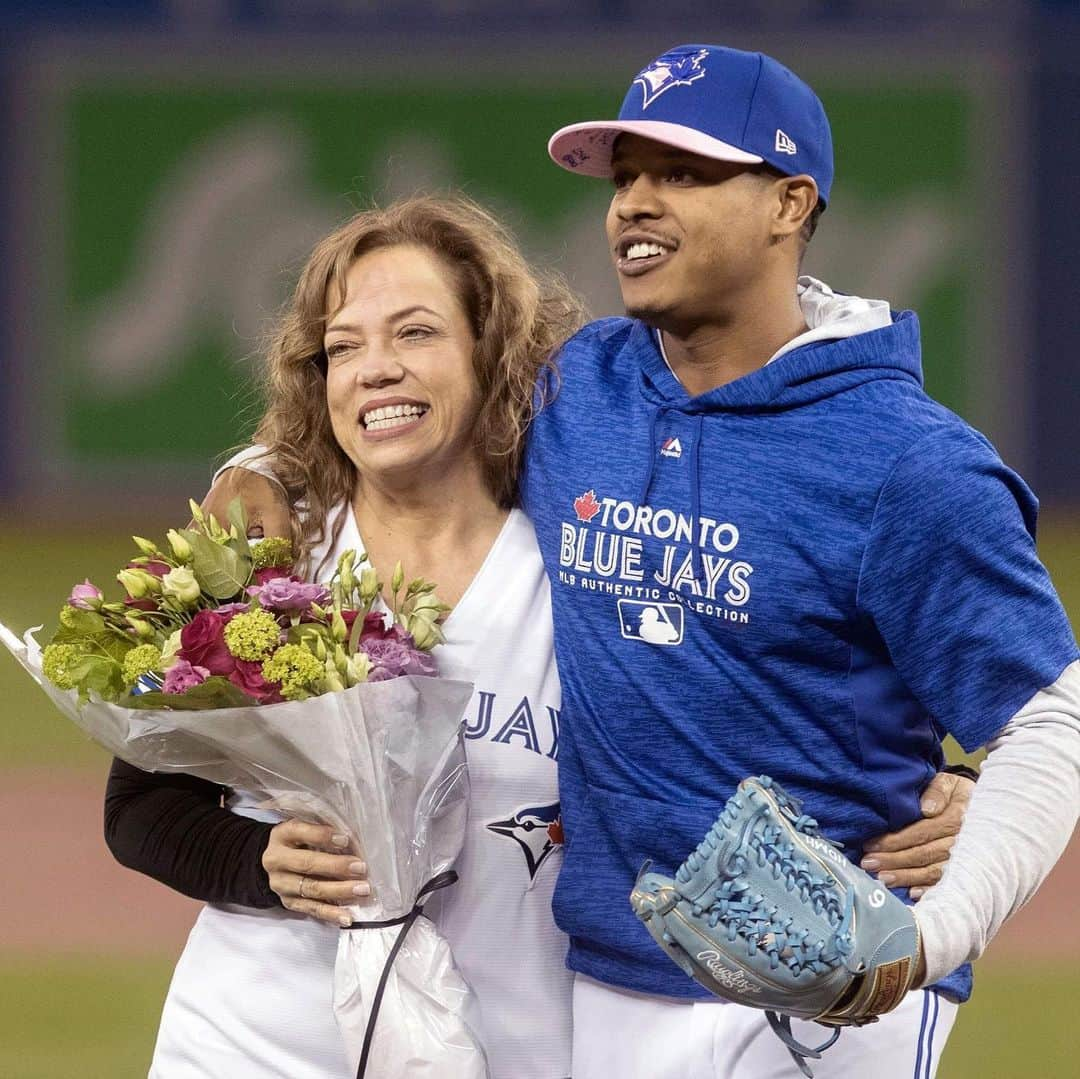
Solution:
[{"label": "whole bouquet of mixed flowers including its clear wrapping and dark ribbon", "polygon": [[164,547],[135,538],[123,599],[85,581],[43,649],[36,631],[0,624],[0,639],[113,755],[359,837],[373,895],[349,908],[334,974],[357,1076],[484,1079],[471,992],[420,916],[455,879],[467,813],[472,686],[433,677],[430,655],[448,608],[399,564],[377,609],[382,586],[353,551],[306,582],[287,540],[248,543],[239,503],[228,528],[192,515]]}]

